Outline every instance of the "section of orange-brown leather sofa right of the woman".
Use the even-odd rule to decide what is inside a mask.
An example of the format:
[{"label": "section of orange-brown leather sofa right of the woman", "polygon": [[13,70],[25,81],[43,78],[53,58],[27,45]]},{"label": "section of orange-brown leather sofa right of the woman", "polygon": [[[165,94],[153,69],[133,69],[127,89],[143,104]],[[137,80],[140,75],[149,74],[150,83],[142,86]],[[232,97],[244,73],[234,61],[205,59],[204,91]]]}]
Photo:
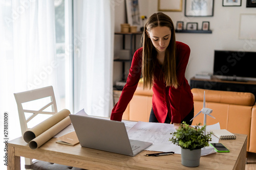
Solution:
[{"label": "section of orange-brown leather sofa right of the woman", "polygon": [[[227,129],[231,133],[247,135],[247,151],[256,153],[256,137],[253,137],[252,109],[255,99],[252,93],[218,91],[193,88],[195,114],[203,108],[203,95],[205,91],[205,107],[212,109],[211,115],[207,116],[207,125],[220,123],[221,129]],[[254,113],[255,115],[255,113]],[[255,119],[255,118],[254,118]],[[192,125],[203,123],[203,114],[197,116]],[[256,122],[256,119],[254,120]],[[255,123],[254,123],[255,126]],[[254,133],[256,129],[254,128]],[[254,134],[255,135],[255,134]],[[254,148],[254,149],[253,149]]]}]

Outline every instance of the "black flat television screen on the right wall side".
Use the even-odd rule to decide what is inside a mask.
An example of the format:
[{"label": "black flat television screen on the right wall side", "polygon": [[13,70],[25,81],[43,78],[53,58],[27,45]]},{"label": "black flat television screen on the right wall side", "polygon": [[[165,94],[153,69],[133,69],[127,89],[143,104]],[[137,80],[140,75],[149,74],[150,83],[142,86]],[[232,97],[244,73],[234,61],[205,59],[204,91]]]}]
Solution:
[{"label": "black flat television screen on the right wall side", "polygon": [[215,51],[214,75],[256,78],[256,52]]}]

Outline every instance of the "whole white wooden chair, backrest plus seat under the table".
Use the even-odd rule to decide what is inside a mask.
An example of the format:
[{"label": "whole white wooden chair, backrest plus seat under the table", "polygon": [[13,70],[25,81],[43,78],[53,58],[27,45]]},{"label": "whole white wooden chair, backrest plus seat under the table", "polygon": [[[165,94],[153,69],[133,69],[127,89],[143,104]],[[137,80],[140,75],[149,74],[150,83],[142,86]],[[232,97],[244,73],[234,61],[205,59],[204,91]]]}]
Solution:
[{"label": "whole white wooden chair, backrest plus seat under the table", "polygon": [[[28,123],[35,117],[40,117],[39,115],[42,114],[55,114],[57,113],[57,105],[55,101],[55,96],[53,92],[53,87],[43,87],[39,89],[14,93],[15,100],[18,107],[18,115],[19,115],[19,123],[20,128],[22,130],[22,135],[29,129]],[[36,105],[35,102],[37,101]],[[35,109],[35,106],[38,106],[38,103],[42,105],[39,109]],[[26,108],[27,107],[27,108]],[[29,109],[29,108],[33,109]],[[26,116],[30,114],[30,116]],[[45,117],[46,119],[47,117]],[[42,122],[40,117],[40,122]],[[36,120],[36,124],[40,123]],[[32,121],[31,121],[32,122]],[[49,170],[49,169],[81,169],[76,167],[70,167],[65,165],[60,165],[56,163],[44,162],[35,160],[32,162],[31,159],[25,158],[25,168],[26,169],[42,169],[42,170]]]}]

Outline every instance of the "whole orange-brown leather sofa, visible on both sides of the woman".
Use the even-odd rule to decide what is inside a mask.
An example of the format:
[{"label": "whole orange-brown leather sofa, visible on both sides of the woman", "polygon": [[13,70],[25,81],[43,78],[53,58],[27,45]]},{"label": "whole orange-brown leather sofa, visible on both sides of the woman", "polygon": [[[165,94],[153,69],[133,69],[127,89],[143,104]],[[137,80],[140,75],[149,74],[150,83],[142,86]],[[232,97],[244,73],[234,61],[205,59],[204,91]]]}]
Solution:
[{"label": "whole orange-brown leather sofa, visible on both sides of the woman", "polygon": [[[205,89],[191,89],[194,96],[195,115],[203,108]],[[133,99],[127,106],[123,119],[148,122],[152,108],[152,90],[143,90],[138,84]],[[220,123],[221,129],[231,133],[248,135],[247,151],[256,153],[256,105],[252,93],[205,90],[206,107],[212,109],[207,125]],[[203,124],[203,114],[193,120],[192,125]]]}]

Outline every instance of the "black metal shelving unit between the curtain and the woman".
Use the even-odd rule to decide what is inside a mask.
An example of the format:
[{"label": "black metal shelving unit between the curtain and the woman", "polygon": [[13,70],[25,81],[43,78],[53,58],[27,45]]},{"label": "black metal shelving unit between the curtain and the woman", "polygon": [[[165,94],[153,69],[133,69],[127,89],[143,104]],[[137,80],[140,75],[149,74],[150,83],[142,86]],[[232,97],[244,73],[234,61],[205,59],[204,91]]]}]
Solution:
[{"label": "black metal shelving unit between the curtain and the woman", "polygon": [[114,61],[117,62],[122,62],[122,78],[121,81],[125,81],[126,77],[124,75],[125,72],[125,62],[130,62],[132,63],[133,60],[133,54],[136,51],[136,36],[137,35],[141,35],[141,32],[137,32],[137,33],[122,33],[122,32],[116,32],[115,35],[121,35],[122,36],[122,50],[125,49],[125,37],[129,37],[130,38],[130,48],[127,50],[130,50],[130,58],[129,59],[114,59]]}]

